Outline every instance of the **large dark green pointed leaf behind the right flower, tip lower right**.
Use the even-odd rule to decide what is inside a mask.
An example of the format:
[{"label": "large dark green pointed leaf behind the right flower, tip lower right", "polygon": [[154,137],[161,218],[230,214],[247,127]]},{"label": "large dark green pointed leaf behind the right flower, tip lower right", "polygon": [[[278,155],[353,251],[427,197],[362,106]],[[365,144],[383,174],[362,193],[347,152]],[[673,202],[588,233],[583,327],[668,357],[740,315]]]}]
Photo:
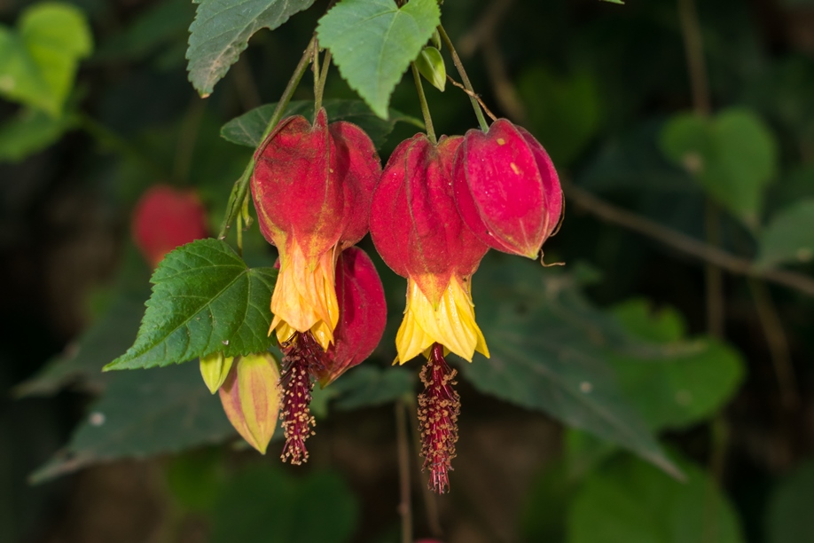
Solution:
[{"label": "large dark green pointed leaf behind the right flower, tip lower right", "polygon": [[483,393],[549,413],[677,474],[605,362],[608,345],[627,343],[613,319],[586,303],[567,275],[496,260],[484,258],[473,278],[491,358],[458,365],[466,379]]}]

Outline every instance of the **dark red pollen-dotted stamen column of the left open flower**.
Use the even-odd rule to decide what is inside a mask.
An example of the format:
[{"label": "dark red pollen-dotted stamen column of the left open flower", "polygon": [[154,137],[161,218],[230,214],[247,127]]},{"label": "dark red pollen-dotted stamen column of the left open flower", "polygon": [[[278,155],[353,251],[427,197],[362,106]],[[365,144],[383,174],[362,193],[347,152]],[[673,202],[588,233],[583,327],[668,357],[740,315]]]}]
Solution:
[{"label": "dark red pollen-dotted stamen column of the left open flower", "polygon": [[283,351],[280,375],[280,421],[286,436],[286,445],[280,458],[291,459],[299,465],[308,461],[305,441],[314,435],[317,421],[311,415],[311,391],[314,383],[311,375],[325,367],[325,350],[309,332],[296,333],[281,343]]}]

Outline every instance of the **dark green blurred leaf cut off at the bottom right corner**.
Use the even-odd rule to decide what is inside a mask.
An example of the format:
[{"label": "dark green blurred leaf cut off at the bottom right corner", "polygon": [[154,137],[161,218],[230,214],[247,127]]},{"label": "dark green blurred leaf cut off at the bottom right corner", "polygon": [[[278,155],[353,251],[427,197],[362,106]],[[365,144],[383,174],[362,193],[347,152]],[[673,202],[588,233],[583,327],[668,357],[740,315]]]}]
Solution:
[{"label": "dark green blurred leaf cut off at the bottom right corner", "polygon": [[766,533],[769,543],[814,541],[814,461],[808,460],[783,478],[771,493]]}]

